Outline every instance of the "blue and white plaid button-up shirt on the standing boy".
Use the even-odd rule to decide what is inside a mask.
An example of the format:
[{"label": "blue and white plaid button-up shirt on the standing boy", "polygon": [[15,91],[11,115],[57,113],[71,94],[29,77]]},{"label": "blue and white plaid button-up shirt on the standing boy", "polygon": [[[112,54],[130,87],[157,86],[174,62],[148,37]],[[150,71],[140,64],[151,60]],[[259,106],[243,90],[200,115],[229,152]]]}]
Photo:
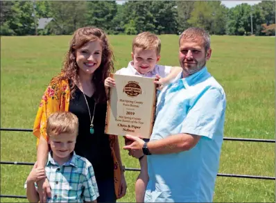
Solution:
[{"label": "blue and white plaid button-up shirt on the standing boy", "polygon": [[62,166],[49,152],[45,171],[51,186],[47,202],[92,202],[99,196],[92,164],[75,152]]}]

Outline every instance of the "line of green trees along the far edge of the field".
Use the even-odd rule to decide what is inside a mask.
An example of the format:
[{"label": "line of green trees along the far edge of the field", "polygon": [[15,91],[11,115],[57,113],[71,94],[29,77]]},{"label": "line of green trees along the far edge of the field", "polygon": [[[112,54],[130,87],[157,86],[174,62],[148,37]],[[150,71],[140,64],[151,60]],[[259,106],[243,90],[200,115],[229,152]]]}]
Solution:
[{"label": "line of green trees along the far edge of the field", "polygon": [[[221,1],[0,1],[1,35],[71,35],[83,26],[108,34],[179,34],[191,26],[212,35],[275,35],[275,1],[234,8]],[[44,29],[38,19],[53,18]]]}]

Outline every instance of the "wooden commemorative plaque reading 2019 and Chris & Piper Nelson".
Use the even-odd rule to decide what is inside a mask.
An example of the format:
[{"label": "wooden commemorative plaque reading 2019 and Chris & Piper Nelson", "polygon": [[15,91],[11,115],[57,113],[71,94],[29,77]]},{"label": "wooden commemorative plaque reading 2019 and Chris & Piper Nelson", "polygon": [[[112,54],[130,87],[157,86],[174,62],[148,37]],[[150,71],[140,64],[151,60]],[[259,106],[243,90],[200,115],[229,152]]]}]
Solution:
[{"label": "wooden commemorative plaque reading 2019 and Chris & Piper Nelson", "polygon": [[155,114],[155,78],[117,74],[111,77],[116,87],[110,88],[105,133],[150,138]]}]

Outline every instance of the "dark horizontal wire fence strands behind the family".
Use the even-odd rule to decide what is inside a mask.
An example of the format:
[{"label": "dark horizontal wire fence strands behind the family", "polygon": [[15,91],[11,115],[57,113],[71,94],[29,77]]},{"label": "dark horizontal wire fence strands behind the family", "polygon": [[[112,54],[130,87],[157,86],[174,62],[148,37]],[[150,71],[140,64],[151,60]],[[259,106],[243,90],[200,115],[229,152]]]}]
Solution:
[{"label": "dark horizontal wire fence strands behind the family", "polygon": [[[0,128],[0,131],[16,131],[16,132],[33,132],[32,129],[21,129],[21,128]],[[249,142],[259,142],[259,143],[275,143],[275,139],[245,139],[245,138],[230,138],[224,137],[225,141],[249,141]],[[33,166],[33,162],[19,162],[19,161],[0,161],[0,164],[7,165],[25,165]],[[126,171],[140,171],[140,168],[126,168]],[[275,177],[268,176],[259,176],[259,175],[237,175],[237,174],[227,174],[227,173],[218,173],[218,177],[236,177],[236,178],[246,178],[246,179],[266,179],[266,180],[275,180]],[[24,195],[0,195],[0,197],[6,198],[19,198],[24,199]]]}]

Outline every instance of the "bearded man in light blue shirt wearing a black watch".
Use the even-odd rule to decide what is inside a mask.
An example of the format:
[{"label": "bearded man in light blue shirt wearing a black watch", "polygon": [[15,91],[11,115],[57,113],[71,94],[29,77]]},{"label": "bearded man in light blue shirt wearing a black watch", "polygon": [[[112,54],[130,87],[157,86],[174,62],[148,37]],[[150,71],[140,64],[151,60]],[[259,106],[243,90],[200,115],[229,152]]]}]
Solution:
[{"label": "bearded man in light blue shirt wearing a black watch", "polygon": [[157,98],[150,141],[127,135],[134,157],[147,155],[145,202],[212,202],[223,142],[226,98],[207,71],[210,37],[201,28],[180,35],[183,69]]}]

